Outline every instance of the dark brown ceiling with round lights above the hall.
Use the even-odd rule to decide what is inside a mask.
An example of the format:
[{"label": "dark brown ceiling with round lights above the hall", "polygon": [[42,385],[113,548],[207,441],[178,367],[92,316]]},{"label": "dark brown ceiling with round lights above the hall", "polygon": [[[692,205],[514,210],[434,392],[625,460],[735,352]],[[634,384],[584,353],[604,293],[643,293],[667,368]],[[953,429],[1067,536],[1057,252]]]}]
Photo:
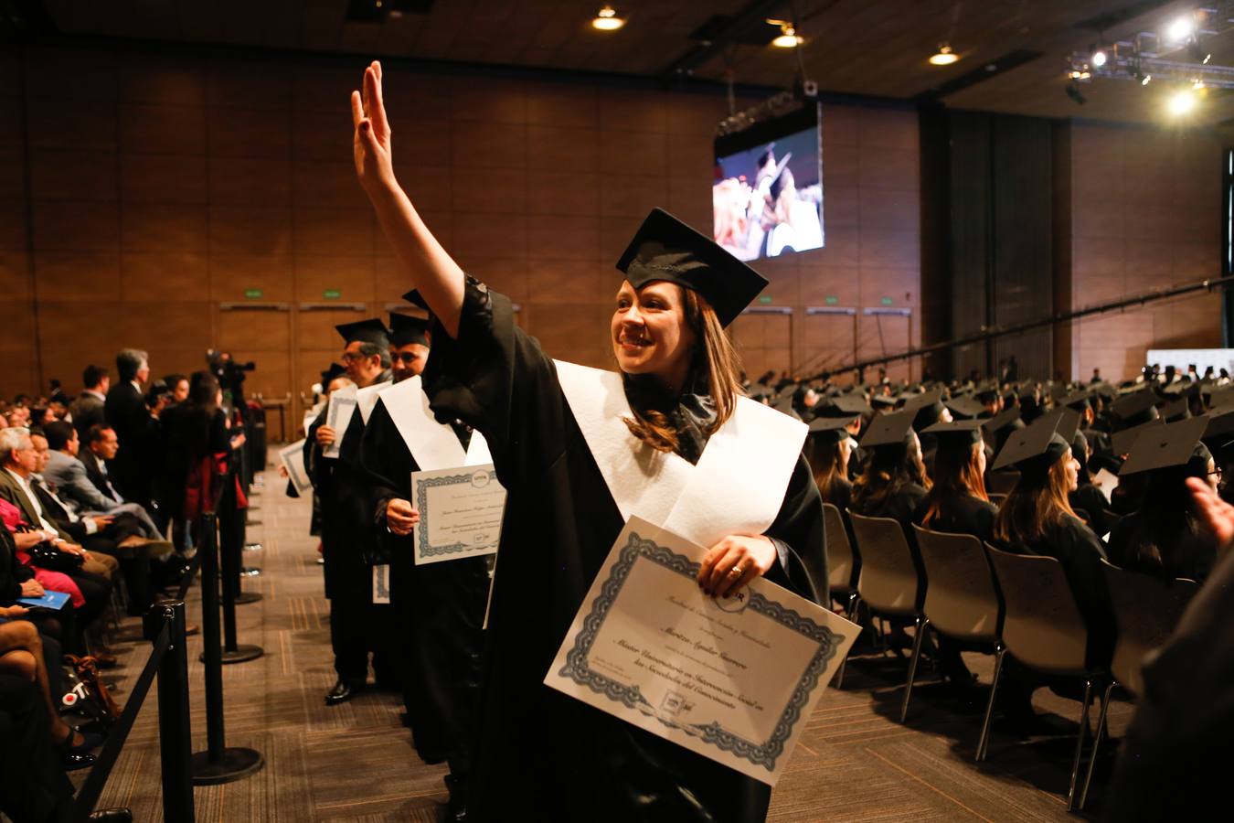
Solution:
[{"label": "dark brown ceiling with round lights above the hall", "polygon": [[[344,20],[347,0],[46,0],[68,33],[141,39],[244,44],[558,70],[617,72],[658,77],[700,43],[690,33],[713,15],[734,15],[750,0],[613,4],[627,19],[617,32],[597,32],[590,20],[598,0],[437,0],[428,14],[379,23]],[[1095,80],[1077,106],[1064,91],[1066,57],[1097,39],[1079,25],[1101,15],[1149,9],[1113,26],[1107,39],[1156,27],[1182,0],[797,0],[806,74],[826,91],[911,100],[932,88],[996,62],[1017,49],[1039,52],[1023,65],[948,95],[951,107],[1046,117],[1148,122],[1160,118],[1164,84]],[[772,10],[775,4],[770,6]],[[789,16],[790,4],[779,5]],[[772,14],[775,14],[772,11]],[[950,42],[961,59],[937,68],[926,58]],[[1234,35],[1212,38],[1214,63],[1234,64]],[[717,49],[696,78],[792,84],[797,56],[774,47]],[[979,75],[980,77],[980,75]],[[1196,115],[1214,122],[1234,116],[1228,96],[1213,95]]]}]

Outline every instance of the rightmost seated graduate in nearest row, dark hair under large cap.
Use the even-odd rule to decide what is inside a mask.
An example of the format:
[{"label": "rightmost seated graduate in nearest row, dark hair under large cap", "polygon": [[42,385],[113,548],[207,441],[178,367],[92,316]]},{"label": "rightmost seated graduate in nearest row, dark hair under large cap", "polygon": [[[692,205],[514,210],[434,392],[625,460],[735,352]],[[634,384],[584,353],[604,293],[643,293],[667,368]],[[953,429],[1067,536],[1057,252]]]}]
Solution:
[{"label": "rightmost seated graduate in nearest row, dark hair under large cap", "polygon": [[1212,537],[1199,526],[1187,479],[1217,486],[1215,466],[1199,442],[1207,420],[1196,417],[1160,426],[1141,436],[1119,470],[1146,473],[1140,508],[1124,517],[1109,536],[1109,560],[1117,566],[1157,577],[1203,581],[1215,563]]}]

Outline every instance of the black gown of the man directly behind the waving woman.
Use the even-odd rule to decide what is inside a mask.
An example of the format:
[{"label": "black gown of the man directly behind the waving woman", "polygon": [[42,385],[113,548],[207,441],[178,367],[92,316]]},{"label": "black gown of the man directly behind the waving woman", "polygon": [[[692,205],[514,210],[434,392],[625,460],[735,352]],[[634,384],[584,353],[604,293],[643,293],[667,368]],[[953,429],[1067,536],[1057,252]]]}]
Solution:
[{"label": "black gown of the man directly behind the waving woman", "polygon": [[[463,437],[459,440],[465,445]],[[416,748],[426,759],[447,756],[450,774],[464,777],[475,730],[489,597],[486,558],[417,566],[411,536],[400,537],[386,527],[386,505],[394,498],[411,500],[411,473],[420,466],[380,399],[360,438],[359,463],[369,485],[379,561],[390,564],[395,621],[379,631],[396,656]]]}]

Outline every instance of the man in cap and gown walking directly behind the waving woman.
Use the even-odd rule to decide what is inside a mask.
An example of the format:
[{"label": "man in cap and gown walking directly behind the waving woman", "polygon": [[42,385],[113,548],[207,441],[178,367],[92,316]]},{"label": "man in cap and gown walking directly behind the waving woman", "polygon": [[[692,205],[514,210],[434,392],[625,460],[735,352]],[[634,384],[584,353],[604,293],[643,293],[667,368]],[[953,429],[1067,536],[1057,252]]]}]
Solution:
[{"label": "man in cap and gown walking directly behind the waving woman", "polygon": [[[426,405],[418,376],[431,352],[428,326],[427,320],[390,315],[394,381],[378,395],[369,413],[359,464],[369,486],[370,521],[376,526],[383,559],[390,564],[394,621],[384,628],[408,726],[422,760],[448,764],[445,785],[450,812],[457,813],[464,808],[471,770],[476,719],[471,707],[480,681],[489,558],[415,563],[412,527],[420,522],[420,512],[411,502],[411,473],[441,466],[421,465],[416,458],[420,443],[402,432],[428,426],[457,440],[464,454],[473,445],[471,429],[460,422],[422,420],[416,426],[407,420],[422,413]],[[407,402],[407,396],[413,401]]]}]

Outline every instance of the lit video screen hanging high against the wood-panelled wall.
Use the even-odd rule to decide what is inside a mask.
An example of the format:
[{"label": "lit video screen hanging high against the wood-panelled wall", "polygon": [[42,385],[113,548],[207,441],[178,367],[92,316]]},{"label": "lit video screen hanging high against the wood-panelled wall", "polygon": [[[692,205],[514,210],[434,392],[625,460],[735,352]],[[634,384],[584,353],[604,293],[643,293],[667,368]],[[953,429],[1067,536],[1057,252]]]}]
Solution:
[{"label": "lit video screen hanging high against the wood-panelled wall", "polygon": [[716,139],[714,239],[740,260],[823,247],[817,106]]}]

